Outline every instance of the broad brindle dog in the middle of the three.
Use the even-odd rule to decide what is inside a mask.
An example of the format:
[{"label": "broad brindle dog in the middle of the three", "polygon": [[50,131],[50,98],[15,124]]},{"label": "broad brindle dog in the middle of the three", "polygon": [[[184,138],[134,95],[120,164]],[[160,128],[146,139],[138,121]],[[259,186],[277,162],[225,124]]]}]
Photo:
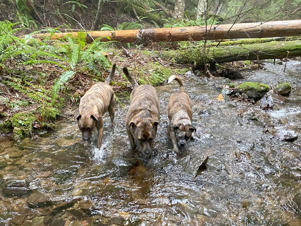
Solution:
[{"label": "broad brindle dog in the middle of the three", "polygon": [[125,120],[130,144],[135,149],[136,142],[146,158],[149,158],[153,152],[159,124],[160,104],[157,92],[152,86],[138,85],[126,67],[123,72],[133,86]]}]

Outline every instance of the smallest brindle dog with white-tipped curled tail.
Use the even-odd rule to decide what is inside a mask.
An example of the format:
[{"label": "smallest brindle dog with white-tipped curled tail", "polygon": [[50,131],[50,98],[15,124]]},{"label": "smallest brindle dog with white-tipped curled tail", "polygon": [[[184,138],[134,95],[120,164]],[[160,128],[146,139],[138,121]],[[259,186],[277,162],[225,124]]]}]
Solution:
[{"label": "smallest brindle dog with white-tipped curled tail", "polygon": [[173,144],[173,150],[179,154],[179,147],[185,148],[192,133],[196,131],[191,124],[192,110],[189,96],[184,92],[183,80],[178,75],[172,75],[168,84],[177,80],[180,89],[170,96],[168,103],[169,133]]}]

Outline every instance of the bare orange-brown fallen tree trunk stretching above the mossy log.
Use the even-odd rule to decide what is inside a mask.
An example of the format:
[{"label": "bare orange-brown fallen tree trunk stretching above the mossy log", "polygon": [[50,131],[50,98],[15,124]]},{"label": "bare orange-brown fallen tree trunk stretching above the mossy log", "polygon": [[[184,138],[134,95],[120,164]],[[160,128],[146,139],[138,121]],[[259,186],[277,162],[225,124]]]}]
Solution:
[{"label": "bare orange-brown fallen tree trunk stretching above the mossy log", "polygon": [[[35,38],[62,39],[77,32],[36,34]],[[140,30],[88,31],[87,42],[102,37],[101,41],[136,42],[187,41],[241,38],[301,36],[301,20],[269,21],[262,23],[221,24],[204,27],[147,28]],[[108,38],[107,38],[108,37]]]}]

